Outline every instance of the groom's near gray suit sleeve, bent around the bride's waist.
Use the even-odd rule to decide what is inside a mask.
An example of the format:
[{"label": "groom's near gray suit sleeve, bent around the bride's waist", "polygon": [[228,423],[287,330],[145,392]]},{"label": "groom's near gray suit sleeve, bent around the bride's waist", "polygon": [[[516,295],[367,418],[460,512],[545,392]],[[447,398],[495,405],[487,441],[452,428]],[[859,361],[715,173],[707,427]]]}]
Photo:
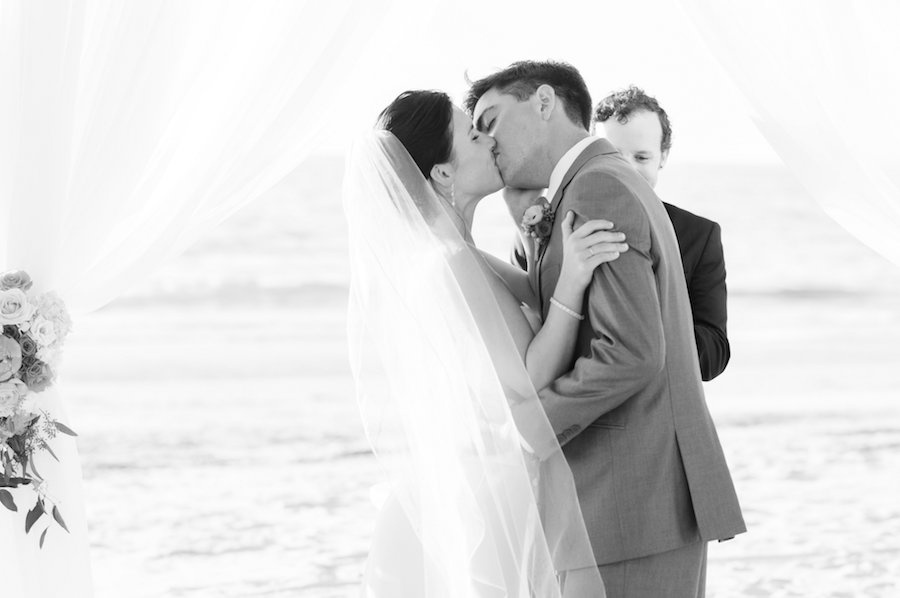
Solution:
[{"label": "groom's near gray suit sleeve, bent around the bride's waist", "polygon": [[561,445],[635,396],[665,363],[650,222],[640,201],[614,176],[587,173],[572,181],[557,214],[568,210],[575,212],[576,226],[595,218],[612,221],[630,248],[594,271],[579,330],[590,336],[589,352],[539,392]]}]

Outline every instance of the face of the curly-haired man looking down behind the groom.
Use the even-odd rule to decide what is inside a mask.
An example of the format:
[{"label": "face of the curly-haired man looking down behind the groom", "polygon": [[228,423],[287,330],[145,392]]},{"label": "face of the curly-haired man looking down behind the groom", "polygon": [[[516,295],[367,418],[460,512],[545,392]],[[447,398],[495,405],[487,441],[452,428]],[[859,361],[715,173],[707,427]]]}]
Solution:
[{"label": "face of the curly-haired man looking down behind the groom", "polygon": [[651,187],[656,187],[659,171],[668,157],[668,152],[661,150],[662,125],[659,116],[649,110],[637,110],[628,115],[625,123],[611,117],[602,125],[609,142]]}]

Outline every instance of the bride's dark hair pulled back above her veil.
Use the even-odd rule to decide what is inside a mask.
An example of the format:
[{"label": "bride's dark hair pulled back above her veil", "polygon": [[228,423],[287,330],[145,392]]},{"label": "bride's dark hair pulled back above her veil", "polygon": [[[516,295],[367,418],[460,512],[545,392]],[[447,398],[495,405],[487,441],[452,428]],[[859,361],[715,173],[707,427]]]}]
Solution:
[{"label": "bride's dark hair pulled back above her veil", "polygon": [[404,91],[382,110],[378,129],[400,140],[426,179],[453,155],[453,102],[440,91]]}]

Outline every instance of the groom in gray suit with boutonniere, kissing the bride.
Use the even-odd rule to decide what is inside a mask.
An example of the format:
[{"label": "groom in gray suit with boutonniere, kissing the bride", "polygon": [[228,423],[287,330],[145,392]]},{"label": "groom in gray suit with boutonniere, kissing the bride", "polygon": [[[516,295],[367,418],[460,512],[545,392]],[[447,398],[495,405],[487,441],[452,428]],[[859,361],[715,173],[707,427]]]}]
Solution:
[{"label": "groom in gray suit with boutonniere, kissing the bride", "polygon": [[[706,543],[746,531],[706,407],[678,243],[662,202],[606,139],[588,134],[578,71],[517,62],[472,84],[479,131],[496,140],[509,187],[548,188],[556,218],[529,264],[540,308],[580,324],[572,369],[540,390],[572,468],[609,598],[705,593]],[[582,305],[551,302],[561,222],[603,218],[630,250],[594,273]],[[593,596],[584,571],[557,562],[564,596]]]}]

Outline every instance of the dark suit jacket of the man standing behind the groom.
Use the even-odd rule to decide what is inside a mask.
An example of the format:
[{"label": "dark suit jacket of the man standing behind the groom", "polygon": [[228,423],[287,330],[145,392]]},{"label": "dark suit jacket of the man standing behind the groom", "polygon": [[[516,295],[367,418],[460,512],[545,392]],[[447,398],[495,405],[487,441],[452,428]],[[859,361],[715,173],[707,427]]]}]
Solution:
[{"label": "dark suit jacket of the man standing behind the groom", "polygon": [[[684,279],[694,319],[700,375],[709,381],[725,371],[731,358],[728,342],[728,289],[722,229],[716,222],[663,202],[681,251]],[[527,269],[521,237],[516,237],[513,263]]]}]

